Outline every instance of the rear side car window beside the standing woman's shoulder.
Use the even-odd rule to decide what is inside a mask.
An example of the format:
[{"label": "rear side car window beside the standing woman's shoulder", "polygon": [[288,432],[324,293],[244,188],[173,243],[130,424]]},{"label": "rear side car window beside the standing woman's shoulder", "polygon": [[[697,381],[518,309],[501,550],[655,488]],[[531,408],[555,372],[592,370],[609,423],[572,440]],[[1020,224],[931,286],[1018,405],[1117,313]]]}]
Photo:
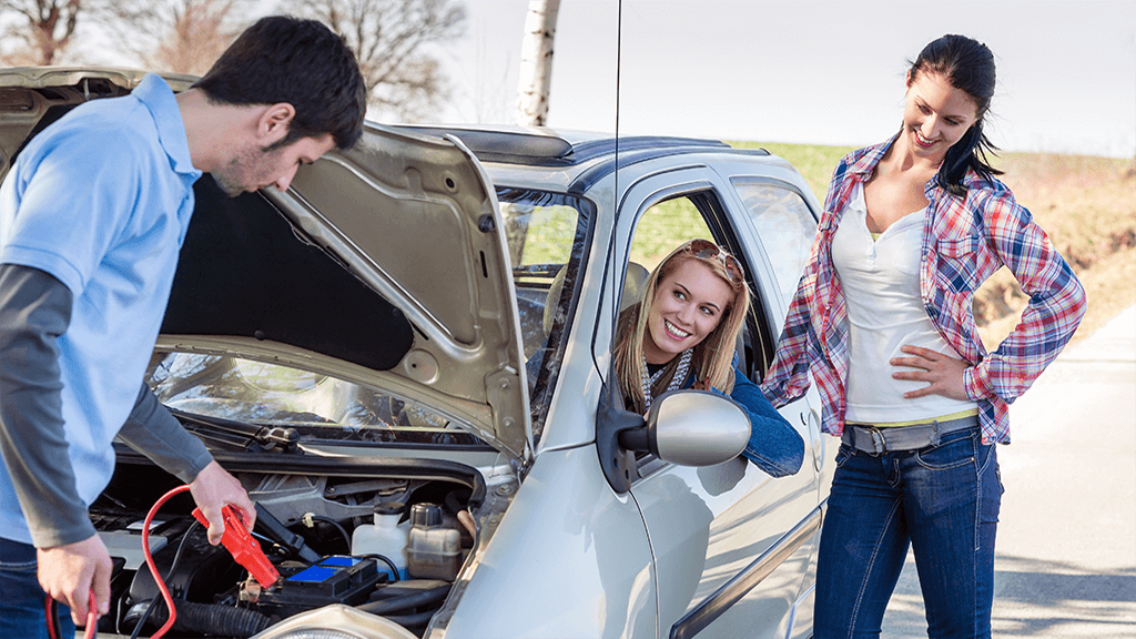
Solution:
[{"label": "rear side car window beside the standing woman's shoulder", "polygon": [[[801,273],[809,263],[817,221],[801,194],[787,186],[745,179],[733,182],[769,255],[777,289],[787,308]],[[785,318],[780,320],[784,322]]]}]

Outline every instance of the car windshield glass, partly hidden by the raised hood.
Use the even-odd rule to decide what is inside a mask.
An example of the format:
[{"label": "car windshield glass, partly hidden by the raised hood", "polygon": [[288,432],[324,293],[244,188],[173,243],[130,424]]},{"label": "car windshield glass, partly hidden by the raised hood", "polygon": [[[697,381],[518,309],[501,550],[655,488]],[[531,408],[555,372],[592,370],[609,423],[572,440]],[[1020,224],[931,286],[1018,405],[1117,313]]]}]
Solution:
[{"label": "car windshield glass, partly hidden by the raised hood", "polygon": [[[586,201],[498,191],[526,358],[534,429],[543,424],[563,357]],[[301,368],[229,355],[156,350],[148,383],[166,406],[209,417],[293,428],[301,437],[351,441],[481,445],[414,397]]]}]

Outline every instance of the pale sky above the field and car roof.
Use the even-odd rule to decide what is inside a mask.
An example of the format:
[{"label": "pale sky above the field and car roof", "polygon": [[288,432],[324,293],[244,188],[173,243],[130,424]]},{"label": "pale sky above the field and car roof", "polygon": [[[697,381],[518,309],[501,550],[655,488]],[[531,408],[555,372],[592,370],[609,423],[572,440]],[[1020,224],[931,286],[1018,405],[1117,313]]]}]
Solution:
[{"label": "pale sky above the field and car roof", "polygon": [[[437,51],[451,103],[427,121],[511,124],[528,0],[465,6],[465,36]],[[994,52],[1003,150],[1136,156],[1136,0],[561,0],[549,125],[870,144],[945,33]]]}]

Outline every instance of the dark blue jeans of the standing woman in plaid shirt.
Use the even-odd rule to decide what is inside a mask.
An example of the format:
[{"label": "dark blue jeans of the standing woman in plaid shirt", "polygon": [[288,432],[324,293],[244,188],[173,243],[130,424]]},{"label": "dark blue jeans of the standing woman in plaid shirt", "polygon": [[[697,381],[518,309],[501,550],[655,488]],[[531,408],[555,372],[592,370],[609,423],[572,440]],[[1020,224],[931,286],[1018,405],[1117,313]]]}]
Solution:
[{"label": "dark blue jeans of the standing woman in plaid shirt", "polygon": [[872,456],[847,445],[817,559],[816,639],[878,638],[911,546],[927,634],[988,638],[1002,482],[977,428]]}]

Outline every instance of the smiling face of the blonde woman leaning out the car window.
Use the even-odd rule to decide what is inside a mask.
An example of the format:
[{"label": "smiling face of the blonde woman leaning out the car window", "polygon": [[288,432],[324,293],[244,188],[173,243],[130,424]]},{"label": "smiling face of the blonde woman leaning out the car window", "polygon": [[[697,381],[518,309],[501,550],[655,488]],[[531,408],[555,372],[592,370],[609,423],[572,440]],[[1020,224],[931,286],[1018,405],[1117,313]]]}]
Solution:
[{"label": "smiling face of the blonde woman leaning out the car window", "polygon": [[734,300],[734,291],[701,259],[683,259],[659,281],[643,335],[648,364],[665,364],[707,339]]}]

